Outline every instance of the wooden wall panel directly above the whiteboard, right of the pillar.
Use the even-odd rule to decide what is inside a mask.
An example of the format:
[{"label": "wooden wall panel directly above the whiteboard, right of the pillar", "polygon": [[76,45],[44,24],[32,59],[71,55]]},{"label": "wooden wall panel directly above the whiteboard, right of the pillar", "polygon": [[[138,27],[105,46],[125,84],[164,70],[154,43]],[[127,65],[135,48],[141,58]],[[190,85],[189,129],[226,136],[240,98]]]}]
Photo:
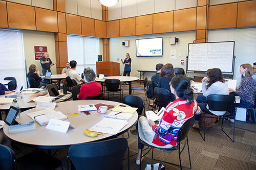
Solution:
[{"label": "wooden wall panel directly above the whiteboard, right of the pillar", "polygon": [[238,3],[209,6],[208,29],[235,28]]}]

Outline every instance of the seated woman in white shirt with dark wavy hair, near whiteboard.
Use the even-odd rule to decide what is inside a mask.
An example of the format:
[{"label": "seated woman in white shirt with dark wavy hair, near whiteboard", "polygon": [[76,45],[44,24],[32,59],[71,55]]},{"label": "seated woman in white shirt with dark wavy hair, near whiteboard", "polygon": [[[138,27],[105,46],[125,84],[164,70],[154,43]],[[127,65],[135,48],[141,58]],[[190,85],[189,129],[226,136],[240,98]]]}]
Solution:
[{"label": "seated woman in white shirt with dark wavy hair, near whiteboard", "polygon": [[[210,94],[229,94],[228,86],[226,81],[223,79],[222,72],[219,68],[212,68],[207,70],[207,77],[202,79],[202,92],[198,94],[197,103],[202,111],[208,112],[205,108],[206,97]],[[223,115],[225,112],[222,111],[211,111],[214,115]],[[199,119],[201,114],[195,115],[195,124],[193,128],[199,128]]]}]

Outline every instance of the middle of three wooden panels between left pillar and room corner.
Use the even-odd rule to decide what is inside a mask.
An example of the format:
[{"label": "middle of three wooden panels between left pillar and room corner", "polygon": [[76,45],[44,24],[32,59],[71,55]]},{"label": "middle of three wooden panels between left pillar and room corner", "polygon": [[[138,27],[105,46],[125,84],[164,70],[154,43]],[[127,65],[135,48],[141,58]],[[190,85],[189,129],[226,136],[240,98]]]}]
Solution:
[{"label": "middle of three wooden panels between left pillar and room corner", "polygon": [[82,35],[95,36],[95,19],[82,17]]}]

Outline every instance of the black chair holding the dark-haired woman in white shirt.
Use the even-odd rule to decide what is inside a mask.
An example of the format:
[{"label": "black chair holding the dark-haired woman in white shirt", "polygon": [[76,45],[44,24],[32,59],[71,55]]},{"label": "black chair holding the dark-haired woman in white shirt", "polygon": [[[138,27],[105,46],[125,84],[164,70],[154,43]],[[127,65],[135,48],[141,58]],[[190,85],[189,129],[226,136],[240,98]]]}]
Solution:
[{"label": "black chair holding the dark-haired woman in white shirt", "polygon": [[[232,110],[232,107],[236,107],[236,97],[234,95],[224,95],[224,94],[210,94],[206,97],[206,102],[205,102],[205,108],[208,105],[208,114],[210,114],[210,111],[225,111],[226,113],[224,115],[218,116],[219,119],[222,119],[222,124],[221,124],[221,130],[227,135],[227,137],[234,142],[234,128],[235,128],[235,121],[233,123],[233,140],[229,137],[229,135],[223,130],[223,120],[225,118],[233,118],[235,119],[236,117],[236,111],[235,109],[234,115],[231,116],[231,113],[229,113],[230,110]],[[211,114],[214,115],[214,114]],[[206,115],[204,114],[204,120],[205,117],[210,117],[210,118],[216,118],[211,115]],[[215,115],[216,116],[216,115]],[[230,120],[229,120],[230,123]],[[198,132],[200,133],[199,129]],[[201,133],[200,133],[201,135]],[[205,121],[204,121],[204,137],[201,135],[203,140],[205,141]]]}]

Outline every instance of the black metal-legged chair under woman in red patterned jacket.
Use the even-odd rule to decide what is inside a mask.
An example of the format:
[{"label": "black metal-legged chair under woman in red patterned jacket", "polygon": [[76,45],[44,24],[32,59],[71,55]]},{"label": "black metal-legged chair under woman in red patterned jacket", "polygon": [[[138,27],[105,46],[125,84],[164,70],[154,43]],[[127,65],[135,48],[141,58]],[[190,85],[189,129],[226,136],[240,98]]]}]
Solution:
[{"label": "black metal-legged chair under woman in red patterned jacket", "polygon": [[[157,160],[157,161],[161,161],[161,162],[165,162],[165,163],[170,163],[170,162],[166,162],[166,161],[163,161],[163,160],[158,160],[158,159],[154,159],[154,149],[160,149],[160,150],[164,150],[164,151],[179,151],[179,160],[180,160],[180,164],[175,164],[175,163],[170,163],[170,164],[173,164],[173,165],[177,165],[177,166],[180,166],[180,169],[182,169],[182,167],[185,167],[185,166],[182,166],[181,165],[181,153],[183,152],[183,150],[185,149],[185,146],[187,144],[187,151],[188,151],[188,158],[189,158],[189,165],[190,165],[190,168],[189,167],[185,167],[185,168],[188,168],[188,169],[191,169],[191,160],[190,160],[190,154],[189,154],[189,145],[188,145],[188,138],[187,138],[187,134],[190,130],[190,128],[193,126],[194,124],[194,116],[189,118],[188,120],[186,120],[186,122],[182,125],[182,127],[180,128],[179,132],[178,132],[178,138],[177,138],[177,145],[176,147],[173,147],[173,148],[168,148],[168,149],[163,149],[163,148],[157,148],[157,147],[154,147],[153,145],[150,145],[146,142],[144,142],[143,140],[141,140],[141,144],[142,146],[145,145],[145,146],[148,146],[148,147],[151,147],[152,149],[152,159],[153,160]],[[181,148],[181,141],[182,140],[185,140],[185,144],[184,146]],[[150,149],[150,150],[151,150]],[[147,151],[146,154],[148,152]],[[143,156],[145,156],[146,154],[144,154]],[[142,157],[142,152],[141,152],[141,155],[140,155],[140,160],[141,160],[141,157]],[[141,163],[140,163],[140,169],[141,169]]]}]

